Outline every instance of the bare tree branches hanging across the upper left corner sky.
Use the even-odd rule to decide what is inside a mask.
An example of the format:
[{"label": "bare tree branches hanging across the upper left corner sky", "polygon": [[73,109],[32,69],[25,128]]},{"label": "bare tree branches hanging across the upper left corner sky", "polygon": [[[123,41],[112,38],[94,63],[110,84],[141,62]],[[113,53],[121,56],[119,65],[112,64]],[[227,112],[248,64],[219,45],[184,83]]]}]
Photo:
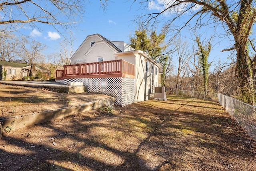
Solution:
[{"label": "bare tree branches hanging across the upper left corner sky", "polygon": [[[106,10],[109,0],[99,0]],[[0,2],[0,30],[16,30],[24,23],[36,26],[36,23],[50,24],[59,31],[59,26],[70,29],[84,16],[89,0],[6,0]],[[8,25],[8,26],[7,26]],[[1,33],[0,33],[1,34]]]}]

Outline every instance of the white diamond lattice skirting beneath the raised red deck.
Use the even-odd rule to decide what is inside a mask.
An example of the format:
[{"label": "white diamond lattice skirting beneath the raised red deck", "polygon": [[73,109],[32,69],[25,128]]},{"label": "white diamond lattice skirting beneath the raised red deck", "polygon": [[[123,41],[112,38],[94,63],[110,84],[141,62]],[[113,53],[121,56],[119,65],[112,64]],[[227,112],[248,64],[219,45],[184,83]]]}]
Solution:
[{"label": "white diamond lattice skirting beneath the raised red deck", "polygon": [[124,77],[111,78],[72,78],[56,80],[63,84],[83,82],[89,93],[101,93],[115,97],[115,105],[125,106],[135,100],[135,79]]}]

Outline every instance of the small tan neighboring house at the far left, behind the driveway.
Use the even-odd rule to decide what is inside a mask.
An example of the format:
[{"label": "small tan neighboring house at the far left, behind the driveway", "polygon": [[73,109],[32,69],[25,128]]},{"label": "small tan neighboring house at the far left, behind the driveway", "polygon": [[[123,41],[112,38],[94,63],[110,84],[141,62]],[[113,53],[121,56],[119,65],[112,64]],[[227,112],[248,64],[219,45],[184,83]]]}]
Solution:
[{"label": "small tan neighboring house at the far left, behind the driveway", "polygon": [[4,80],[4,73],[6,73],[5,80],[21,80],[26,76],[36,76],[39,71],[46,74],[49,72],[46,68],[36,66],[34,64],[28,65],[16,62],[0,61],[0,80]]}]

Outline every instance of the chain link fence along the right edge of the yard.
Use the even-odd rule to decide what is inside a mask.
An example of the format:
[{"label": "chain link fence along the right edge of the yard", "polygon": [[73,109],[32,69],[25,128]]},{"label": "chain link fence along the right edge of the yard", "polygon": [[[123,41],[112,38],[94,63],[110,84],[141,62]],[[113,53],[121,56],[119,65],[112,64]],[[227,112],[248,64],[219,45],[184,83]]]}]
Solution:
[{"label": "chain link fence along the right edge of the yard", "polygon": [[179,95],[218,101],[220,105],[234,117],[236,122],[239,123],[252,138],[256,139],[256,107],[221,93],[209,93],[207,97],[205,97],[204,92],[180,90]]}]

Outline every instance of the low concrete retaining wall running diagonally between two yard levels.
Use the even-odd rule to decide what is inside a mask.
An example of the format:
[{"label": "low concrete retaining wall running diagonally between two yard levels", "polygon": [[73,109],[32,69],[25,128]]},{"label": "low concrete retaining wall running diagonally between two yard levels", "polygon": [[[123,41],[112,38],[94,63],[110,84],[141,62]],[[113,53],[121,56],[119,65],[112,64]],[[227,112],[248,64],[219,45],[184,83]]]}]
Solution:
[{"label": "low concrete retaining wall running diagonally between two yard levels", "polygon": [[115,98],[110,97],[109,99],[92,101],[74,107],[63,107],[59,109],[38,111],[24,115],[2,117],[0,118],[0,124],[2,124],[3,129],[9,126],[11,130],[15,130],[29,125],[35,125],[51,121],[53,119],[60,119],[62,117],[74,115],[76,113],[82,113],[92,109],[98,109],[104,105],[114,105],[114,103]]}]

